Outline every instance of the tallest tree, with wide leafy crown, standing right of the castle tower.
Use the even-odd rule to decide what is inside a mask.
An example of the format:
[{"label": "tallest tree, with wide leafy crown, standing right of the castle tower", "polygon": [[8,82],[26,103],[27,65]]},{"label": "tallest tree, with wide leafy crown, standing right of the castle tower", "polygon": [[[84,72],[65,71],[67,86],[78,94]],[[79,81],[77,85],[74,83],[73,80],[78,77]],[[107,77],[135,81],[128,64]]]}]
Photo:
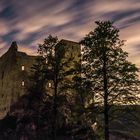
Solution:
[{"label": "tallest tree, with wide leafy crown, standing right of the castle tower", "polygon": [[127,60],[124,41],[110,21],[97,21],[97,27],[82,41],[86,75],[92,80],[95,101],[104,106],[104,137],[109,140],[109,119],[113,105],[137,102],[138,68]]}]

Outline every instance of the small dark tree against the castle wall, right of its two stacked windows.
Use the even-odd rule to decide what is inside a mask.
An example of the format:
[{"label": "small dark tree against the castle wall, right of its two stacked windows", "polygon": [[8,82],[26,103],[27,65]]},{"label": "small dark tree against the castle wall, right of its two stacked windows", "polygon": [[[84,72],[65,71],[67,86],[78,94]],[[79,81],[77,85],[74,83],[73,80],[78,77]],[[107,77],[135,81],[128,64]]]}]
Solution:
[{"label": "small dark tree against the castle wall, right of its two stacked windows", "polygon": [[28,92],[31,94],[31,100],[33,98],[42,99],[45,91],[46,85],[46,75],[45,75],[45,59],[43,57],[38,56],[36,58],[35,64],[31,67],[31,74],[29,76],[30,85],[28,88]]}]

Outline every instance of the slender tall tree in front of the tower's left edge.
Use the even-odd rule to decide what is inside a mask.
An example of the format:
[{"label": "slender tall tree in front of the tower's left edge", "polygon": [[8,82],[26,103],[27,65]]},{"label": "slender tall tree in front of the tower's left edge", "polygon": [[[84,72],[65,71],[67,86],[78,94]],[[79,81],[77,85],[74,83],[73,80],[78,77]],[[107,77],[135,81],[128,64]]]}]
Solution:
[{"label": "slender tall tree in front of the tower's left edge", "polygon": [[[71,58],[65,58],[65,45],[59,43],[57,37],[48,36],[43,44],[39,44],[38,52],[41,57],[45,59],[45,78],[47,85],[47,92],[52,97],[52,139],[56,139],[59,124],[61,124],[61,117],[66,116],[66,92],[69,88],[69,78],[71,75],[69,62]],[[50,84],[50,88],[48,87]],[[61,120],[61,121],[60,121]],[[63,119],[64,121],[65,119]]]}]

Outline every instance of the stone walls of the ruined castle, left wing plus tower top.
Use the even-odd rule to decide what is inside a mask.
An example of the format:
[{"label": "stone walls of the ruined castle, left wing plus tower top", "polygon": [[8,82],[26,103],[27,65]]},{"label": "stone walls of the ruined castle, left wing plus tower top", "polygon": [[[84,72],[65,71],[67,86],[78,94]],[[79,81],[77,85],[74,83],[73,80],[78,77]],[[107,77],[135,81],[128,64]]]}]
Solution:
[{"label": "stone walls of the ruined castle, left wing plus tower top", "polygon": [[[80,61],[80,45],[64,39],[57,46],[61,47],[61,44],[65,44],[64,59],[73,57],[70,65],[73,67],[75,61]],[[27,93],[26,86],[30,84],[28,76],[36,58],[37,56],[29,56],[24,52],[19,52],[16,42],[13,42],[9,50],[0,57],[0,119],[6,116],[10,106],[20,96]]]}]

